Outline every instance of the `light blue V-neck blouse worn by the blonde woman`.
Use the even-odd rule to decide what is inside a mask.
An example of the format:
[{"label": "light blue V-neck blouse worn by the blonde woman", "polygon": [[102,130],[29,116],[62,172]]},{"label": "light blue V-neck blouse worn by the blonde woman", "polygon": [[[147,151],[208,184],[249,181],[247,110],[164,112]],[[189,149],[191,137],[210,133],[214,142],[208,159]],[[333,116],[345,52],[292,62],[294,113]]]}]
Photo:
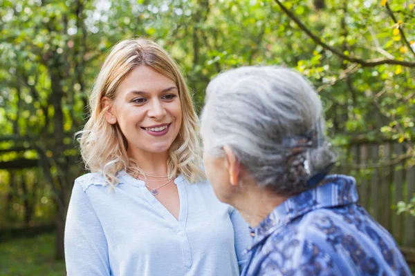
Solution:
[{"label": "light blue V-neck blouse worn by the blonde woman", "polygon": [[124,171],[118,177],[112,191],[96,172],[75,180],[65,227],[68,276],[239,275],[248,224],[208,182],[174,180],[177,220],[143,181]]}]

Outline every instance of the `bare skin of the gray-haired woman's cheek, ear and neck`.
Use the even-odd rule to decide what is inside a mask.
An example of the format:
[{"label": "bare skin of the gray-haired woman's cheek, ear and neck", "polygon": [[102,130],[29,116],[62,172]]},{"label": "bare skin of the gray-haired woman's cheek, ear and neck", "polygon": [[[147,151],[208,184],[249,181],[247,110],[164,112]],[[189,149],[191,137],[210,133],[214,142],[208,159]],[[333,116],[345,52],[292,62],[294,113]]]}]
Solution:
[{"label": "bare skin of the gray-haired woman's cheek, ear and neck", "polygon": [[218,199],[239,210],[243,219],[255,228],[275,207],[288,197],[276,195],[270,190],[260,188],[255,179],[249,176],[230,146],[223,147],[221,157],[203,152],[205,172]]}]

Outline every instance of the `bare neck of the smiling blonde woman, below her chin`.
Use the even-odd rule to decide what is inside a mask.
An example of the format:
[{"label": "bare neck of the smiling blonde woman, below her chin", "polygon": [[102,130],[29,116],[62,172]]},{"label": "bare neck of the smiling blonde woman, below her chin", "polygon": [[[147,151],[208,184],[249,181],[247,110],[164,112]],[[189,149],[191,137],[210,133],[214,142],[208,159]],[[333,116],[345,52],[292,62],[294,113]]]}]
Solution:
[{"label": "bare neck of the smiling blonde woman, below her chin", "polygon": [[128,150],[128,156],[148,175],[167,175],[169,152],[141,152]]}]

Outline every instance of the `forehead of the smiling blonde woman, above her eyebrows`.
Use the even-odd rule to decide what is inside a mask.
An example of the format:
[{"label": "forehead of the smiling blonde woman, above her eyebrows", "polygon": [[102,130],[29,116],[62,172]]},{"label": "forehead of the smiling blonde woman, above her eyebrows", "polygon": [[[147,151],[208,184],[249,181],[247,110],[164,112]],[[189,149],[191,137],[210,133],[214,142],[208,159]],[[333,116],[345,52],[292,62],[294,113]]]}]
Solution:
[{"label": "forehead of the smiling blonde woman, above her eyebrows", "polygon": [[176,83],[160,74],[149,66],[138,66],[131,70],[127,77],[121,81],[117,88],[117,95],[127,95],[129,92],[136,90],[147,93],[158,93],[166,88],[176,87]]}]

